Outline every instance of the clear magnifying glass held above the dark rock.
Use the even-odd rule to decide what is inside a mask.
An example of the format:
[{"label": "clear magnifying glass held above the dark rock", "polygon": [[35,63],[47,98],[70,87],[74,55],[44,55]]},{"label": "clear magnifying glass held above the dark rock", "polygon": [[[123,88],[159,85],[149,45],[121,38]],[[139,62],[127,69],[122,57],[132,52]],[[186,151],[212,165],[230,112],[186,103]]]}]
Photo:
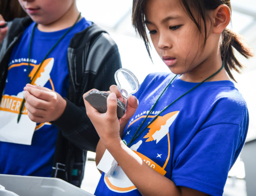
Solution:
[{"label": "clear magnifying glass held above the dark rock", "polygon": [[126,110],[129,96],[138,91],[140,84],[136,76],[130,70],[125,68],[118,69],[114,76],[118,90],[124,98]]}]

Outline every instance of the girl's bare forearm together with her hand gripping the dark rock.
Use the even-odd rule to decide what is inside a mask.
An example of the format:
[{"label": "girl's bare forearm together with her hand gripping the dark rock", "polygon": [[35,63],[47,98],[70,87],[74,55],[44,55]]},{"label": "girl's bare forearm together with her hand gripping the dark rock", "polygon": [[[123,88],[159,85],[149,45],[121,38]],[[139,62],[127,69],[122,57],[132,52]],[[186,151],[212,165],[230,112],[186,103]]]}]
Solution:
[{"label": "girl's bare forearm together with her hand gripping the dark rock", "polygon": [[[85,93],[86,96],[90,91]],[[128,101],[125,119],[129,119],[136,110],[138,102]],[[133,103],[133,104],[132,104]],[[88,117],[95,126],[101,141],[97,146],[97,163],[106,149],[115,158],[127,177],[143,195],[172,195],[172,196],[205,196],[206,194],[186,187],[177,187],[174,182],[149,167],[134,151],[129,149],[120,137],[120,121],[116,116],[116,94],[107,97],[107,112],[99,113],[88,101],[84,100]],[[105,146],[103,146],[103,145]]]}]

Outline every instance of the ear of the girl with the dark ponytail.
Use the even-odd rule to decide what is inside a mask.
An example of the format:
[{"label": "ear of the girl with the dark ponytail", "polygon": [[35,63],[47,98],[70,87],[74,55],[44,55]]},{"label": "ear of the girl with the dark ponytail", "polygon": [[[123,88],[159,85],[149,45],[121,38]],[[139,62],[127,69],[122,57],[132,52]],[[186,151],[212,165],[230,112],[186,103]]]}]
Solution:
[{"label": "ear of the girl with the dark ponytail", "polygon": [[227,5],[219,5],[214,10],[213,19],[213,33],[222,33],[222,31],[229,25],[231,18],[231,11]]}]

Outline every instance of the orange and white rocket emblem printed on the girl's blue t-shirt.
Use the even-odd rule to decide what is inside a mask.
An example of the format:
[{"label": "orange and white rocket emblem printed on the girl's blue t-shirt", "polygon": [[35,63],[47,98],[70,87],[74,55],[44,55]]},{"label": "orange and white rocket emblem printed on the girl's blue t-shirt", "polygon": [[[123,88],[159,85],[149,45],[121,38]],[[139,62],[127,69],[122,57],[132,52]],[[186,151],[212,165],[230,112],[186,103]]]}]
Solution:
[{"label": "orange and white rocket emblem printed on the girl's blue t-shirt", "polygon": [[[168,145],[170,144],[169,133],[168,133],[169,127],[172,125],[172,123],[174,122],[178,114],[179,114],[179,111],[175,111],[175,112],[170,112],[168,114],[165,114],[163,116],[158,116],[158,118],[148,126],[149,131],[143,137],[145,138],[145,140],[139,140],[138,142],[136,142],[136,144],[133,144],[130,147],[130,149],[133,152],[135,152],[138,156],[140,156],[140,158],[145,163],[147,163],[147,165],[149,165],[152,169],[156,170],[161,175],[166,174],[165,167],[170,158],[170,145]],[[145,116],[143,117],[145,118]],[[155,116],[149,116],[149,117],[154,118]],[[131,124],[129,124],[129,126]],[[152,145],[158,145],[159,142],[165,137],[168,138],[165,141],[168,142],[166,146],[169,146],[169,149],[168,149],[168,152],[166,153],[167,158],[165,160],[164,165],[160,166],[158,163],[153,161],[152,158],[147,157],[146,154],[140,153],[140,147],[143,146],[143,144],[148,142],[153,142],[154,144]],[[150,151],[150,149],[148,150]],[[161,155],[162,154],[158,154],[157,156],[161,158]],[[119,165],[116,167],[116,170],[112,177],[107,177],[106,175],[104,176],[104,182],[110,190],[117,193],[126,193],[136,189],[136,187],[125,175],[124,171]]]}]

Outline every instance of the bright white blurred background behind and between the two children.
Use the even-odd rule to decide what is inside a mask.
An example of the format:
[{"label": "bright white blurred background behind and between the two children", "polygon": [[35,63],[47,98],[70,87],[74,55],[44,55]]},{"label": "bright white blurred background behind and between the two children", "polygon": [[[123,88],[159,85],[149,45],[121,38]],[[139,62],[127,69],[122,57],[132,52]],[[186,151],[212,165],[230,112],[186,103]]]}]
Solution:
[{"label": "bright white blurred background behind and between the two children", "polygon": [[[255,54],[256,1],[231,0],[231,5],[233,12],[232,23],[229,28],[242,34]],[[161,61],[154,49],[151,52],[153,63],[150,61],[143,41],[135,34],[131,25],[132,0],[77,0],[77,6],[82,16],[109,32],[118,45],[122,66],[131,70],[140,83],[151,72],[169,72],[169,69]],[[256,57],[247,60],[238,55],[238,59],[246,66],[242,74],[234,73],[234,76],[238,82],[235,85],[243,94],[249,108],[250,124],[245,145],[248,144],[249,146],[250,144],[250,147],[246,151],[246,156],[242,156],[242,153],[242,158],[238,158],[229,172],[224,195],[255,196],[256,192],[253,192],[255,189],[252,190],[251,188],[256,182],[256,173],[254,170],[251,171],[251,168],[247,168],[246,164],[247,162],[256,163],[255,154],[251,154],[254,149],[256,150]],[[246,160],[248,154],[251,155],[249,161]],[[94,157],[94,153],[88,152],[89,161],[86,163],[85,177],[82,183],[82,189],[90,193],[94,193],[100,177],[93,161]],[[245,170],[248,171],[246,174]],[[254,178],[249,176],[248,173],[253,173]]]}]

